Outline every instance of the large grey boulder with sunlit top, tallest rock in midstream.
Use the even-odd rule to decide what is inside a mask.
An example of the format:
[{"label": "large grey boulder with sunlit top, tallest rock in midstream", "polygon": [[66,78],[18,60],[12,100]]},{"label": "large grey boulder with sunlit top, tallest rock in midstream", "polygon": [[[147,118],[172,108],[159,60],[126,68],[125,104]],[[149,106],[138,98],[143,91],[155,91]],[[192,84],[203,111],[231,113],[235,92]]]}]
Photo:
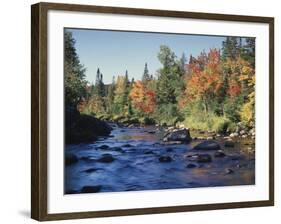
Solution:
[{"label": "large grey boulder with sunlit top, tallest rock in midstream", "polygon": [[189,143],[192,140],[190,136],[190,132],[188,129],[173,129],[171,131],[168,131],[168,133],[165,134],[163,141],[164,142],[185,142]]}]

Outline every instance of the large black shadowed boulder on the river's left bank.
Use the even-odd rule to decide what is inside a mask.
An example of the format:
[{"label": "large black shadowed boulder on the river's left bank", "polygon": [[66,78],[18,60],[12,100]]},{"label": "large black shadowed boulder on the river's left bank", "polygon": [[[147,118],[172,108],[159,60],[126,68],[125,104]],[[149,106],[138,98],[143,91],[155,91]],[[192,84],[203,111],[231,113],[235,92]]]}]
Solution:
[{"label": "large black shadowed boulder on the river's left bank", "polygon": [[99,136],[108,136],[112,128],[94,116],[80,114],[76,109],[67,107],[65,110],[65,142],[93,142]]}]

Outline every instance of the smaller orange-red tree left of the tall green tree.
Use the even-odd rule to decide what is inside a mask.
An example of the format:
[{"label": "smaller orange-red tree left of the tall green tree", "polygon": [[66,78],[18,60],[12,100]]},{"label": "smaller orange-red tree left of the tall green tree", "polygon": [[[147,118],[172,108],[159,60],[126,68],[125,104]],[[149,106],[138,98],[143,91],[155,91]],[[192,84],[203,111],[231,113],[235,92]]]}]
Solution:
[{"label": "smaller orange-red tree left of the tall green tree", "polygon": [[141,81],[136,81],[130,92],[130,99],[135,110],[143,114],[155,111],[156,94],[149,90]]}]

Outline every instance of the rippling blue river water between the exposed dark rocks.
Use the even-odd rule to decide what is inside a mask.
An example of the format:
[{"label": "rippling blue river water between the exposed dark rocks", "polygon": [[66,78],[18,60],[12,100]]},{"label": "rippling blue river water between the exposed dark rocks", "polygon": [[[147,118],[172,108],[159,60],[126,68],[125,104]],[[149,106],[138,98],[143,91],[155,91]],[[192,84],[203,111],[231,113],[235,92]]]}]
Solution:
[{"label": "rippling blue river water between the exposed dark rocks", "polygon": [[[101,186],[97,192],[114,192],[255,183],[255,160],[236,148],[225,150],[223,158],[210,153],[211,163],[193,161],[195,166],[188,169],[186,156],[192,144],[162,144],[161,133],[154,132],[153,127],[115,127],[109,138],[94,144],[67,145],[65,151],[79,161],[65,167],[65,192],[79,193],[85,186]],[[98,162],[105,153],[114,160]],[[171,161],[159,162],[164,155]],[[234,172],[225,175],[227,168]]]}]

